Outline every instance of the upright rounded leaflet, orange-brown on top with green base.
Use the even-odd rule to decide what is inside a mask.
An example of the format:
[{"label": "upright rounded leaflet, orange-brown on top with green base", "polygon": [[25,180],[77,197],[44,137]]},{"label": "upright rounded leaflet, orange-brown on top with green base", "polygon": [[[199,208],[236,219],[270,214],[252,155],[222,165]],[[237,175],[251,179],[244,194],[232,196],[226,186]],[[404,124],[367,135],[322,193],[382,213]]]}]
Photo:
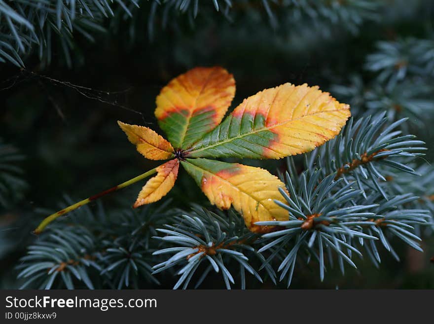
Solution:
[{"label": "upright rounded leaflet, orange-brown on top with green base", "polygon": [[186,148],[216,127],[235,95],[232,74],[195,68],[174,78],[157,97],[155,116],[176,148]]}]

